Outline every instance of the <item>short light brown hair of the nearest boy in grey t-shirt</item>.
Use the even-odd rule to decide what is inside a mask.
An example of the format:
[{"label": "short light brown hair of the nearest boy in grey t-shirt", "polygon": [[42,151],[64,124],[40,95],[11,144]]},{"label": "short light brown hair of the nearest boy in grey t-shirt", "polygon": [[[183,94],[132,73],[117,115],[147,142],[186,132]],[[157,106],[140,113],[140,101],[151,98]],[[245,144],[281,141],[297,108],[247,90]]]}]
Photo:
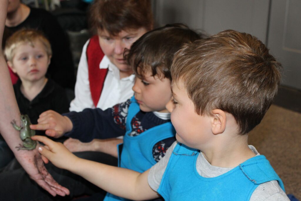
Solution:
[{"label": "short light brown hair of the nearest boy in grey t-shirt", "polygon": [[199,115],[221,109],[240,134],[260,123],[281,81],[281,64],[256,37],[225,30],[186,45],[174,58],[173,82],[183,81]]}]

